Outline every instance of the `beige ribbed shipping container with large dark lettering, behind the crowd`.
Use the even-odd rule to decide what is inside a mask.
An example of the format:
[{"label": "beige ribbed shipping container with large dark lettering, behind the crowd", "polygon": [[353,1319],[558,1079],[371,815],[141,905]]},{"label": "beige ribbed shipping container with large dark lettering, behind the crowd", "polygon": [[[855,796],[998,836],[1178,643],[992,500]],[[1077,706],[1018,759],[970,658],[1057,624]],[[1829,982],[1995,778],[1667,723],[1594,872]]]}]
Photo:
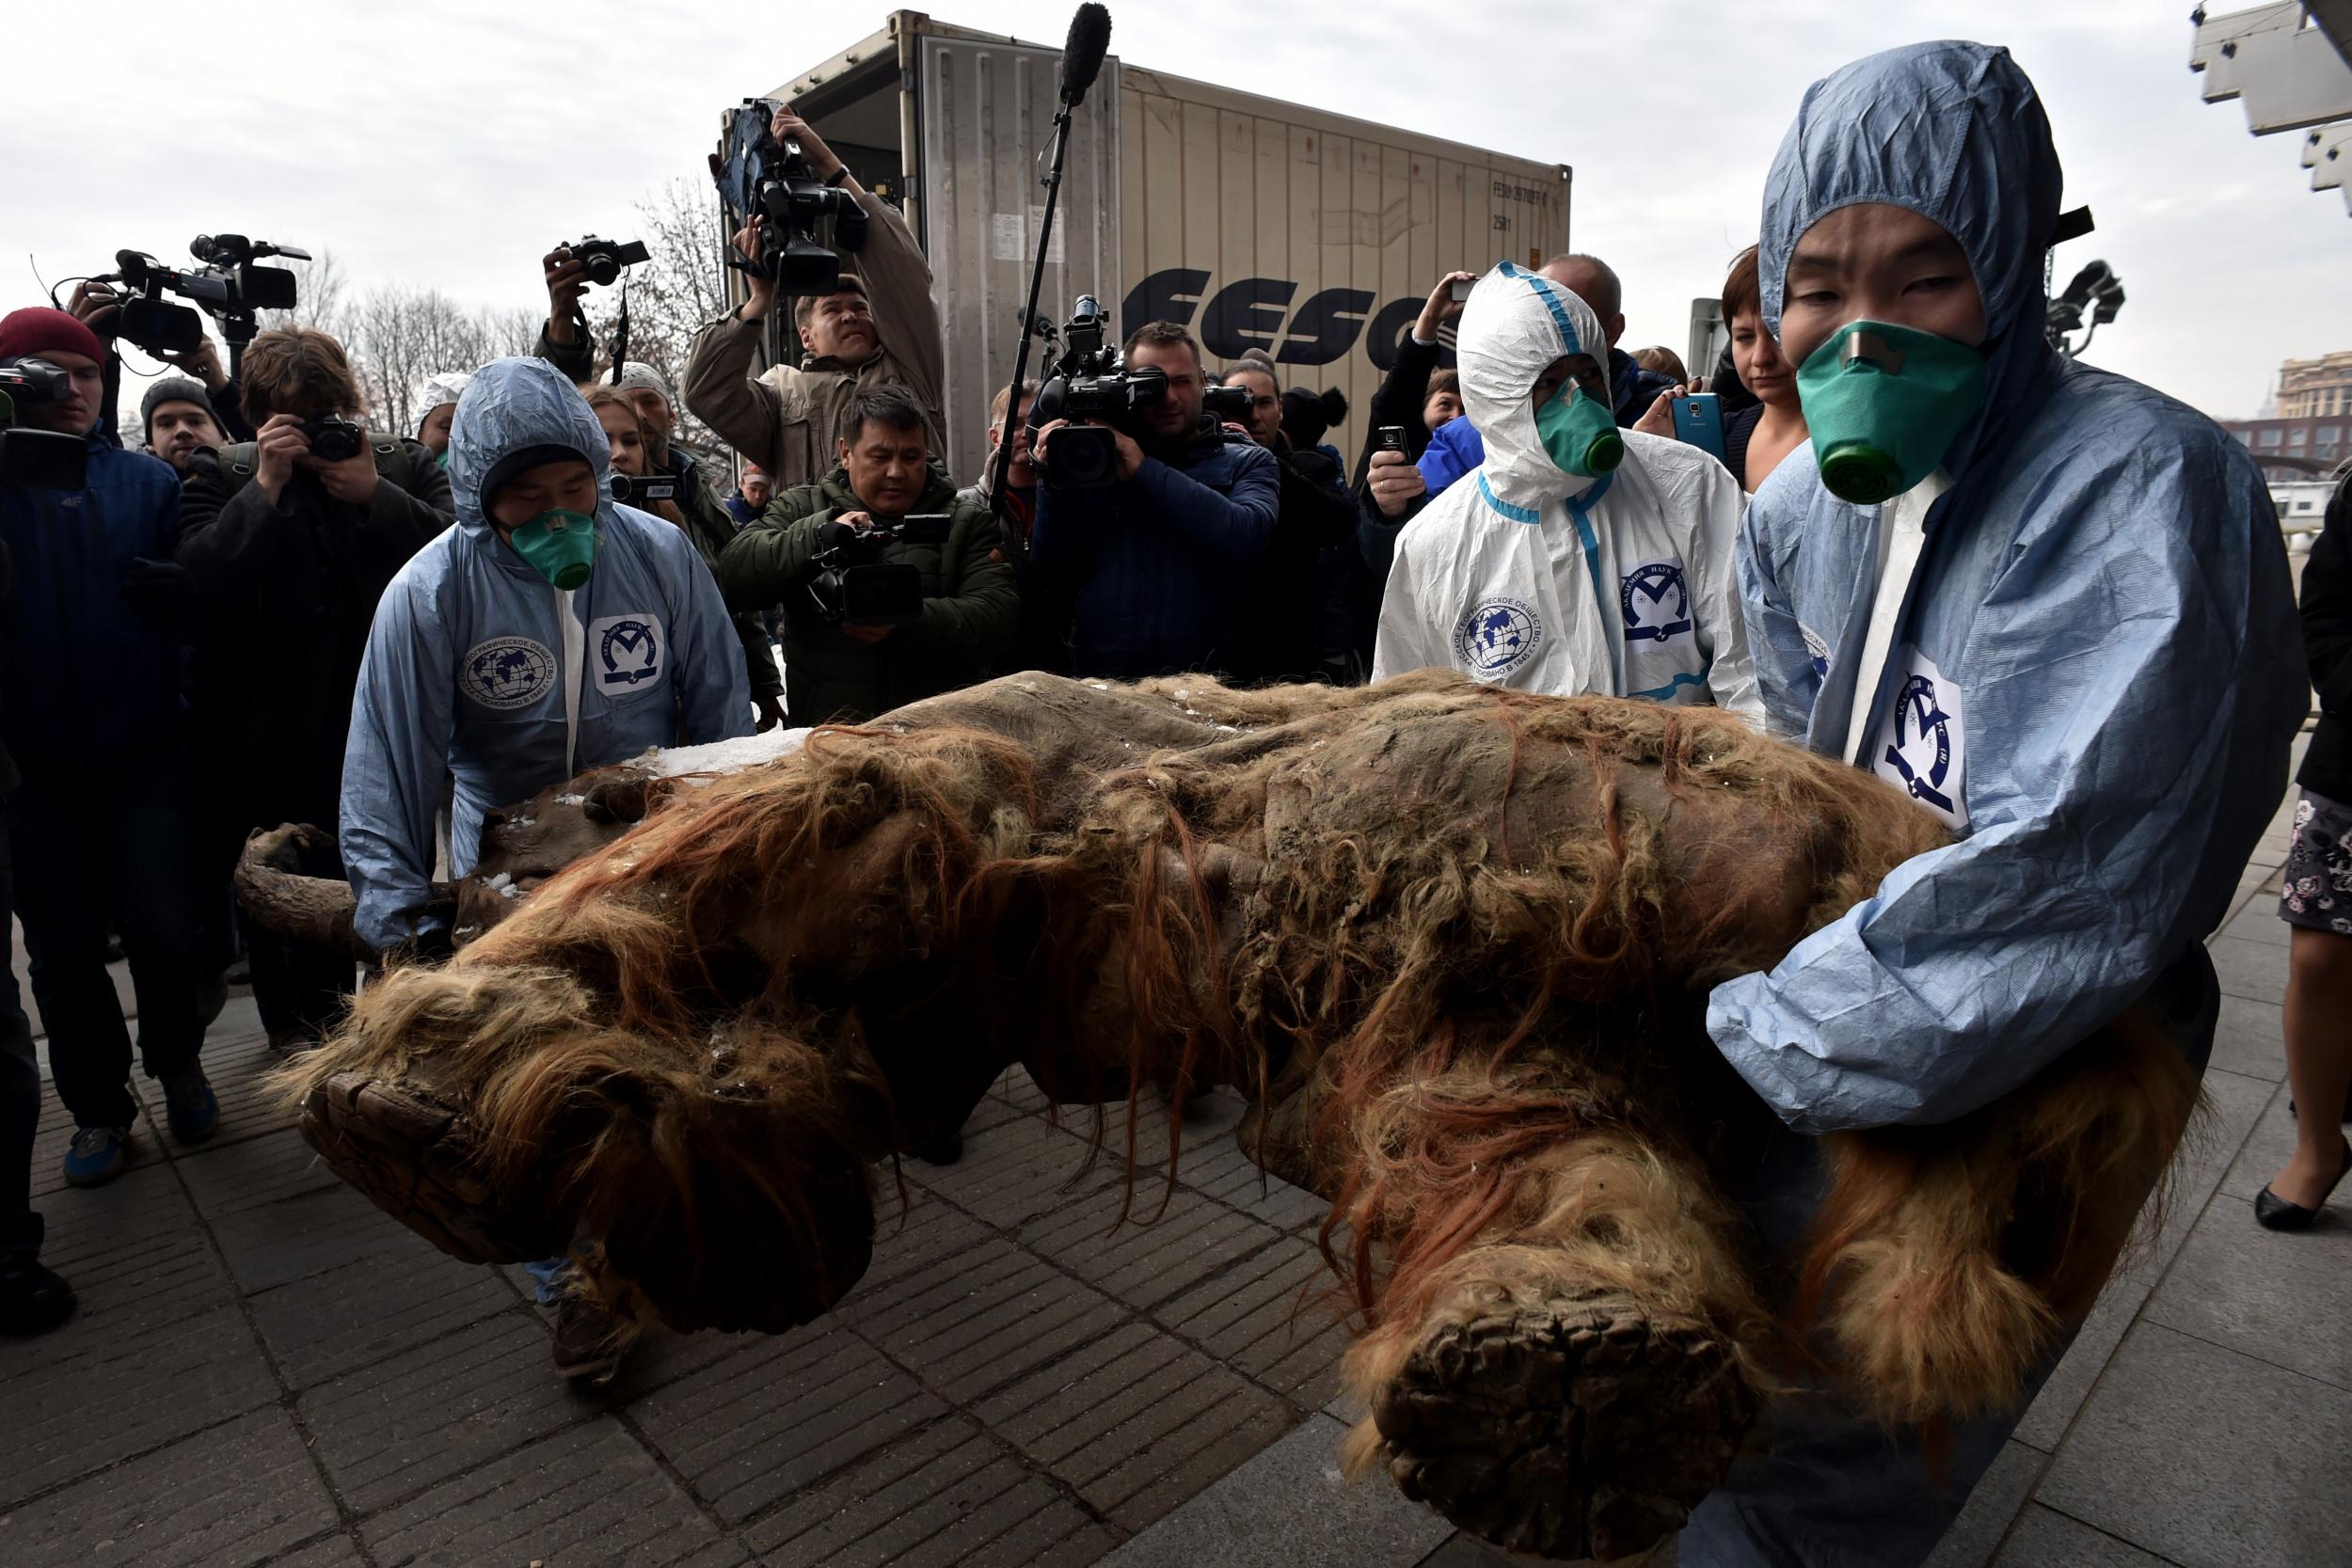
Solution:
[{"label": "beige ribbed shipping container with large dark lettering, behind the crowd", "polygon": [[[948,334],[950,465],[983,468],[1044,214],[1061,49],[894,12],[776,87],[861,183],[901,202]],[[1117,54],[1077,110],[1040,315],[1094,294],[1122,334],[1188,324],[1211,374],[1247,348],[1338,386],[1355,458],[1399,331],[1437,277],[1569,249],[1569,167],[1195,82]],[[774,353],[790,353],[779,313]],[[884,322],[887,331],[887,322]],[[1033,371],[1042,353],[1030,355]]]}]

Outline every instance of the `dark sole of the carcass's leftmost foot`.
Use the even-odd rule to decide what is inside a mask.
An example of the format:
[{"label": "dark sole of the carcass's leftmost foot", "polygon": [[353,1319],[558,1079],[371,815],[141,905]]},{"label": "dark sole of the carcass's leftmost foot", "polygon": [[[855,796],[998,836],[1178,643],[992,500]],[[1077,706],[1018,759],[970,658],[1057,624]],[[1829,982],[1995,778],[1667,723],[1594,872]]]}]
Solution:
[{"label": "dark sole of the carcass's leftmost foot", "polygon": [[419,1237],[463,1262],[553,1258],[569,1227],[492,1192],[473,1119],[414,1081],[339,1072],[303,1098],[320,1159]]}]

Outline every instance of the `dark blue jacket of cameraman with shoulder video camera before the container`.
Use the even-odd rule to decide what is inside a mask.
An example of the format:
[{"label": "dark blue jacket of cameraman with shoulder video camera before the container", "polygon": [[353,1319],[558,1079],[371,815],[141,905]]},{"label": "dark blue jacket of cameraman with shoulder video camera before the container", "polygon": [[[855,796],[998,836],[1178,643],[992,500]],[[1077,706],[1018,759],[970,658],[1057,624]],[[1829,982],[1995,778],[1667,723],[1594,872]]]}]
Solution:
[{"label": "dark blue jacket of cameraman with shoulder video camera before the container", "polygon": [[[1030,564],[1070,607],[1075,675],[1225,670],[1244,576],[1275,536],[1275,454],[1204,433],[1108,491],[1037,487]],[[1315,604],[1301,604],[1315,616]]]}]

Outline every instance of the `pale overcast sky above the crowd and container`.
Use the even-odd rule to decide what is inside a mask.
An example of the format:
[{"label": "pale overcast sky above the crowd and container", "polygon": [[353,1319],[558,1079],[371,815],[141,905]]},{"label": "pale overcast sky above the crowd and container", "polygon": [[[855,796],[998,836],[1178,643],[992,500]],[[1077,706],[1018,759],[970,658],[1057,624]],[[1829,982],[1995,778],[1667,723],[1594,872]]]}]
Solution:
[{"label": "pale overcast sky above the crowd and container", "polygon": [[[2227,7],[2227,0],[2223,0]],[[1070,5],[938,0],[931,14],[1058,42]],[[1573,240],[1625,275],[1628,343],[1679,343],[1757,230],[1804,87],[1924,38],[2009,45],[2042,89],[2067,205],[2129,289],[2091,360],[2216,416],[2258,409],[2279,360],[2352,348],[2352,219],[2298,139],[2249,136],[2187,71],[2187,0],[1771,7],[1449,0],[1127,5],[1112,52],[1576,169]],[[809,0],[564,7],[129,0],[9,7],[0,303],[106,270],[118,247],[186,263],[216,228],[332,249],[355,284],[543,303],[539,256],[628,237],[633,202],[703,176],[717,110],[821,63],[887,9]],[[1896,19],[1900,16],[1900,19]],[[1275,28],[1268,33],[1265,28]]]}]

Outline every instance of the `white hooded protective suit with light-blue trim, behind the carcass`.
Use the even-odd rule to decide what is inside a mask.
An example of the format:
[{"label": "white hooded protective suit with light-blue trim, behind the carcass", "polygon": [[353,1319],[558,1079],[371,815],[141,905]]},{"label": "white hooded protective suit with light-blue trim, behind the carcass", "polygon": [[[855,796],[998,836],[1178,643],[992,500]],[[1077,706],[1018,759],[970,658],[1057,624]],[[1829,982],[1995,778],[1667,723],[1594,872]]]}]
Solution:
[{"label": "white hooded protective suit with light-blue trim, behind the carcass", "polygon": [[1628,430],[1611,473],[1576,477],[1536,435],[1536,378],[1597,341],[1592,308],[1541,273],[1505,261],[1470,292],[1456,355],[1486,461],[1399,534],[1374,679],[1437,665],[1552,696],[1755,712],[1731,569],[1740,487],[1724,465]]}]

